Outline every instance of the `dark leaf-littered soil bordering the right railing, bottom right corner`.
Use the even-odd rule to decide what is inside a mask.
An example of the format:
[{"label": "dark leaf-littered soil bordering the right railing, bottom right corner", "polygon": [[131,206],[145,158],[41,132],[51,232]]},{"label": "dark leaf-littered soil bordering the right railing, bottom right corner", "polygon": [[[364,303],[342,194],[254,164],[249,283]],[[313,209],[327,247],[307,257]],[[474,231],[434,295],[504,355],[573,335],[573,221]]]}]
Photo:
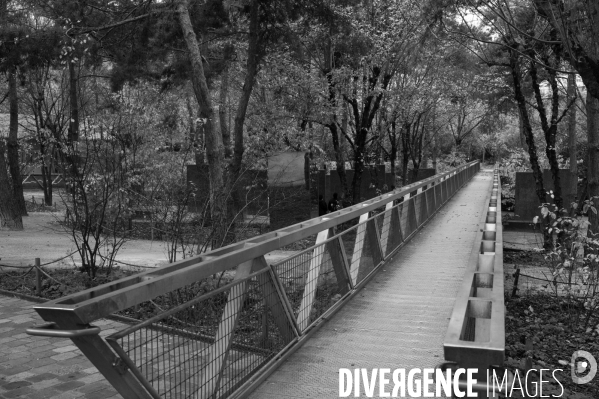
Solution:
[{"label": "dark leaf-littered soil bordering the right railing, bottom right corner", "polygon": [[[547,274],[551,275],[543,253],[506,251],[504,266],[506,366],[514,372],[519,370],[521,376],[529,369],[562,369],[563,372],[557,375],[563,385],[563,394],[559,384],[549,381],[543,385],[544,395],[568,399],[599,397],[597,377],[584,385],[574,384],[570,378],[570,363],[575,351],[584,350],[599,358],[599,314],[587,320],[581,303],[567,301],[554,292],[551,284],[543,281]],[[515,267],[523,274],[516,295],[512,296]],[[524,278],[524,275],[531,277]],[[536,378],[538,382],[538,377],[535,374],[533,380]],[[532,387],[529,388],[532,391]],[[525,395],[517,393],[513,397]]]}]

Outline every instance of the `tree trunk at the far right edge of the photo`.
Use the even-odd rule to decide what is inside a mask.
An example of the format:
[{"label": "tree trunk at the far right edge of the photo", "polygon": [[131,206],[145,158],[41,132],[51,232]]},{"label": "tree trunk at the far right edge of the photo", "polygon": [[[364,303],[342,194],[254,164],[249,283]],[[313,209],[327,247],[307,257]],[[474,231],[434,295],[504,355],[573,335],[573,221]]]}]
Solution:
[{"label": "tree trunk at the far right edge of the photo", "polygon": [[[588,194],[590,198],[599,196],[599,100],[591,93],[587,94],[587,137],[588,137]],[[584,199],[584,198],[581,198]],[[595,208],[599,207],[599,200],[594,199]],[[589,212],[591,230],[596,233],[599,227],[599,218]]]}]

